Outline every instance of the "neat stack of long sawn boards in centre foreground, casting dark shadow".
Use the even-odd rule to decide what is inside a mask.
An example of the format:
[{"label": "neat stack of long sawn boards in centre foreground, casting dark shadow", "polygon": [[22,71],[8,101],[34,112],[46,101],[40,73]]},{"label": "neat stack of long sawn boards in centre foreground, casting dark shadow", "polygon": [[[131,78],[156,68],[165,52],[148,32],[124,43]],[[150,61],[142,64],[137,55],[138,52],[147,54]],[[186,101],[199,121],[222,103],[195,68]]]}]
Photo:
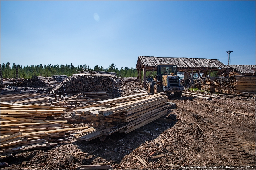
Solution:
[{"label": "neat stack of long sawn boards in centre foreground, casting dark shadow", "polygon": [[114,132],[129,133],[167,114],[167,98],[164,93],[140,93],[77,108],[72,113],[73,118],[92,120],[93,130],[86,134],[81,131],[80,136],[75,137],[89,141]]}]

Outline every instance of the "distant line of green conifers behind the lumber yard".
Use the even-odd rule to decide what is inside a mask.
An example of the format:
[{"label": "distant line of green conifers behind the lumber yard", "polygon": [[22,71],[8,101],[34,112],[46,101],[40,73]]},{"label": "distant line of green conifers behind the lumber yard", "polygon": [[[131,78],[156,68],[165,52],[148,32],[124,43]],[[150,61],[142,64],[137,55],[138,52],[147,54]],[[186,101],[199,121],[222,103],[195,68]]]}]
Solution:
[{"label": "distant line of green conifers behind the lumber yard", "polygon": [[13,63],[11,64],[7,62],[6,64],[1,64],[1,70],[3,78],[16,78],[16,67],[18,69],[18,78],[32,78],[33,76],[43,76],[43,77],[49,77],[53,75],[67,75],[71,76],[74,73],[78,73],[78,71],[82,71],[84,69],[88,70],[94,70],[94,71],[108,71],[108,72],[115,72],[117,73],[117,76],[120,77],[137,77],[137,69],[131,67],[121,67],[120,70],[115,67],[115,65],[112,63],[110,66],[108,66],[107,69],[104,69],[102,66],[94,66],[94,68],[90,68],[86,64],[84,65],[78,65],[74,66],[72,63],[70,65],[51,65],[51,64],[45,64],[45,65],[16,65]]}]

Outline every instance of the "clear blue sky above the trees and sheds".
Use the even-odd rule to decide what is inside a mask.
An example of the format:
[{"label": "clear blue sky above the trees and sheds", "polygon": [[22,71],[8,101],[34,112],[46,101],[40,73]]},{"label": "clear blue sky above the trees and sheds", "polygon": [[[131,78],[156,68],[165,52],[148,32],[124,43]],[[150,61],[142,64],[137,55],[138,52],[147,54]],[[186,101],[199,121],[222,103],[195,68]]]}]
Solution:
[{"label": "clear blue sky above the trees and sheds", "polygon": [[253,64],[256,1],[1,1],[2,63],[135,67],[139,55]]}]

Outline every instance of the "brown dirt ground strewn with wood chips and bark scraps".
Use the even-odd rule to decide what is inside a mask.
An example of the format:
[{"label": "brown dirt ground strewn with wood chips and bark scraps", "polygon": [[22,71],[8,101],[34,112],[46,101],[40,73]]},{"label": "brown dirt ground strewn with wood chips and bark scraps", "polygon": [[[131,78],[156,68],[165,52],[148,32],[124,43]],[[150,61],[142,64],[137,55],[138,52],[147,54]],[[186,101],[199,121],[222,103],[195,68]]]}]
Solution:
[{"label": "brown dirt ground strewn with wood chips and bark scraps", "polygon": [[[131,89],[139,88],[142,89],[140,83],[124,84],[120,87],[121,96],[136,94]],[[1,169],[80,169],[82,165],[104,164],[113,169],[177,169],[167,164],[190,169],[227,169],[226,166],[255,169],[255,97],[216,94],[221,99],[206,100],[185,95],[167,96],[168,101],[176,103],[176,108],[168,110],[162,118],[173,121],[151,122],[141,127],[152,136],[136,131],[113,133],[104,142],[99,139],[76,141],[70,137],[48,149],[21,152],[3,159],[1,162],[7,162],[10,167]],[[232,116],[233,111],[253,116],[236,113]],[[75,127],[92,125],[91,122],[71,123]],[[163,154],[163,157],[151,159],[150,164],[148,154],[155,149],[154,155]],[[68,161],[70,155],[74,156],[71,162]],[[146,166],[135,156],[146,162]],[[27,161],[26,165],[22,165],[23,161]]]}]

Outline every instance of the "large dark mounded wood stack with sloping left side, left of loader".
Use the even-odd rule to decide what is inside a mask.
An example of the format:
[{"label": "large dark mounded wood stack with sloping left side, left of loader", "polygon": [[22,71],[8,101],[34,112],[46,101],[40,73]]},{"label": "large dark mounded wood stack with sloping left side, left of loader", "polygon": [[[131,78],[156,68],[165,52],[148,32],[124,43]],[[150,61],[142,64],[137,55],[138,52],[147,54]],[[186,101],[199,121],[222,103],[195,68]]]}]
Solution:
[{"label": "large dark mounded wood stack with sloping left side, left of loader", "polygon": [[49,93],[64,95],[72,92],[106,92],[109,98],[116,97],[113,81],[109,76],[90,76],[82,74],[70,76]]}]

